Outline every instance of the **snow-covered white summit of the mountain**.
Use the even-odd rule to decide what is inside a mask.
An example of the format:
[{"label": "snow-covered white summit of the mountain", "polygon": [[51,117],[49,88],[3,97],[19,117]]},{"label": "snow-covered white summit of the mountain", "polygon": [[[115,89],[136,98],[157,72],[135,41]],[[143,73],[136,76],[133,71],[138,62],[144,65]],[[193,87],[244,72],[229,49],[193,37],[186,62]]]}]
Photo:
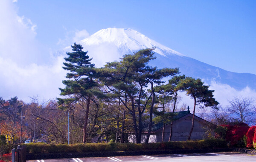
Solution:
[{"label": "snow-covered white summit of the mountain", "polygon": [[154,52],[162,56],[184,56],[183,54],[161,45],[160,43],[157,43],[154,40],[149,39],[147,36],[130,28],[102,29],[90,37],[81,40],[81,44],[84,46],[101,45],[105,43],[115,45],[119,50],[126,50],[129,53],[145,48],[156,47]]}]

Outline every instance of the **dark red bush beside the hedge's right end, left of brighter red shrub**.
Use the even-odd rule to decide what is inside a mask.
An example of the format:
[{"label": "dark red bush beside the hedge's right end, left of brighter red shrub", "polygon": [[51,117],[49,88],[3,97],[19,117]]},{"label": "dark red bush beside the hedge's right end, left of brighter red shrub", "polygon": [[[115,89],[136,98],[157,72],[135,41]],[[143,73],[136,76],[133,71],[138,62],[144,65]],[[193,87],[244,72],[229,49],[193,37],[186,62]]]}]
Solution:
[{"label": "dark red bush beside the hedge's right end, left of brighter red shrub", "polygon": [[221,125],[227,128],[226,140],[230,141],[231,146],[237,145],[246,135],[250,126],[245,123],[239,123],[235,126]]}]

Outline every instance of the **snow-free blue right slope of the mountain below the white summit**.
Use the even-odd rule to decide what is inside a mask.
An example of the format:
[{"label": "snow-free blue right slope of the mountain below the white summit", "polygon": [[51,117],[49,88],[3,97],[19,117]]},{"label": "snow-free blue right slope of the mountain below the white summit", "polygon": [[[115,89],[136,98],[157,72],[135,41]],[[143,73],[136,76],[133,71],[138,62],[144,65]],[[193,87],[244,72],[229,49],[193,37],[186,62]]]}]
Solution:
[{"label": "snow-free blue right slope of the mountain below the white summit", "polygon": [[207,84],[211,84],[214,81],[218,84],[228,84],[230,87],[238,90],[245,87],[250,87],[253,90],[256,89],[256,75],[254,74],[230,72],[186,56],[163,58],[156,53],[156,57],[157,59],[151,61],[152,65],[159,68],[179,67],[181,74],[201,78]]}]

